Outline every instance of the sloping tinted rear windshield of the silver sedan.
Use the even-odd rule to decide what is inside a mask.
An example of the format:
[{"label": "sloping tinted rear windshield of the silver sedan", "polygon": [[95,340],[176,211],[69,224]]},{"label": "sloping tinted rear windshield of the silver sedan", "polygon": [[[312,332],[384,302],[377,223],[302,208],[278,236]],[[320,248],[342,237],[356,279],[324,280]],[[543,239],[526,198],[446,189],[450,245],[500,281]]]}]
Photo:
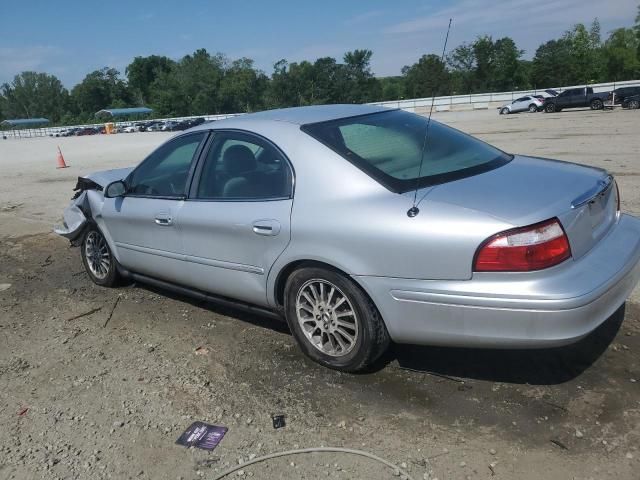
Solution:
[{"label": "sloping tinted rear windshield of the silver sedan", "polygon": [[392,110],[308,124],[302,130],[399,193],[416,185],[425,187],[477,175],[512,158],[435,120],[431,120],[425,142],[427,124],[425,117]]}]

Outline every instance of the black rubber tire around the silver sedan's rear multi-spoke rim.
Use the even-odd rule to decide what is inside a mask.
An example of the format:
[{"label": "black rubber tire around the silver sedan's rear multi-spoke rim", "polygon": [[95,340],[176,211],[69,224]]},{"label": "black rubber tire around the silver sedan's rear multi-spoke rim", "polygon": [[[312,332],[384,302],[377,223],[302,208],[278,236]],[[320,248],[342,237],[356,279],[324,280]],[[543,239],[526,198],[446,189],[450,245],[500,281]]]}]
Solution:
[{"label": "black rubber tire around the silver sedan's rear multi-spoke rim", "polygon": [[[309,286],[317,285],[316,282],[326,284],[329,287],[336,287],[335,295],[342,295],[347,300],[346,302],[342,302],[342,305],[347,303],[347,308],[352,308],[355,313],[355,315],[351,317],[353,318],[353,323],[357,324],[357,330],[349,330],[349,333],[355,338],[355,342],[351,344],[353,345],[351,349],[347,350],[344,354],[338,353],[336,355],[330,355],[325,353],[323,350],[324,345],[314,345],[301,326],[297,308],[298,298],[302,299],[304,293],[308,292],[306,289],[309,288]],[[324,296],[321,292],[318,292],[322,299],[320,303],[323,303],[325,307],[327,305],[331,307],[329,292],[330,291],[325,291]],[[389,333],[380,316],[380,312],[378,312],[378,309],[371,299],[360,287],[341,273],[321,267],[301,268],[294,271],[287,279],[284,294],[285,316],[293,336],[298,342],[302,352],[320,365],[343,372],[357,372],[370,367],[387,350],[390,342]],[[325,298],[329,300],[326,303],[324,302]],[[309,304],[308,302],[306,303]],[[328,308],[325,313],[323,313],[322,319],[324,319],[324,315],[327,315],[327,320],[324,325],[325,328],[327,328],[326,322],[333,322],[329,314],[334,315],[335,312],[338,311],[338,308],[341,308],[336,306],[335,303],[335,310],[332,311],[331,308]],[[300,311],[306,310],[301,309]],[[314,312],[316,312],[315,307]],[[307,318],[307,323],[310,326],[307,331],[318,332],[321,343],[324,342],[325,335],[327,335],[326,343],[328,344],[328,348],[333,347],[335,342],[329,341],[328,334],[323,334],[320,330],[321,327],[313,327],[310,325],[316,322],[316,318],[318,319],[318,323],[322,322],[320,315],[314,318],[314,314],[315,313],[312,313],[309,315],[309,318]],[[328,328],[333,327],[330,325]],[[338,327],[335,327],[332,333],[333,337],[336,336],[337,331]],[[346,339],[344,336],[340,338],[342,338],[343,341]]]}]

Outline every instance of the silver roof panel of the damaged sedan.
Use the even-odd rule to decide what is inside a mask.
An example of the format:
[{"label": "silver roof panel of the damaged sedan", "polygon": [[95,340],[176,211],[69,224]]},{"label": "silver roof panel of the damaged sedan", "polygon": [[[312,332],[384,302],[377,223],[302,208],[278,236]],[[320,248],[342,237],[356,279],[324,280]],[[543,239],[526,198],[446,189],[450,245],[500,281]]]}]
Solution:
[{"label": "silver roof panel of the damaged sedan", "polygon": [[[263,112],[245,113],[228,120],[218,120],[216,127],[224,123],[251,122],[253,120],[268,120],[274,122],[288,122],[295,125],[326,122],[339,118],[355,117],[370,113],[386,112],[388,108],[379,105],[311,105],[307,107],[278,108]],[[211,128],[207,126],[205,128]]]}]

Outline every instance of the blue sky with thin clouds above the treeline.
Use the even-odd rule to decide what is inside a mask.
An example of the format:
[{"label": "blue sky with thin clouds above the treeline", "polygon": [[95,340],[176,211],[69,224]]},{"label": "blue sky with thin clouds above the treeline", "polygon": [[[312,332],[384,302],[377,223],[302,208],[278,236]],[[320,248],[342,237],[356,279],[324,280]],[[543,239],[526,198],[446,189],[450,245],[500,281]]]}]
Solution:
[{"label": "blue sky with thin clouds above the treeline", "polygon": [[478,35],[510,36],[525,58],[575,23],[598,17],[603,37],[633,25],[640,0],[0,0],[0,83],[24,70],[68,88],[104,66],[124,74],[135,56],[173,59],[206,48],[273,64],[373,50],[377,76]]}]

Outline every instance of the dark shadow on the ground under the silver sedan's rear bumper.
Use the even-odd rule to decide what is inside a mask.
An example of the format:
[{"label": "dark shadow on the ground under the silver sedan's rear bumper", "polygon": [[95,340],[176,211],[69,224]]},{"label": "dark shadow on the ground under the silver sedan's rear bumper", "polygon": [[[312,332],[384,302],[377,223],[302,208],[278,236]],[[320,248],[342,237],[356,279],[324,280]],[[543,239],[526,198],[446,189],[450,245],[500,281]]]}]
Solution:
[{"label": "dark shadow on the ground under the silver sedan's rear bumper", "polygon": [[399,368],[434,375],[531,385],[572,380],[607,350],[625,316],[622,305],[582,340],[564,347],[536,350],[394,345],[377,368],[397,361]]}]

